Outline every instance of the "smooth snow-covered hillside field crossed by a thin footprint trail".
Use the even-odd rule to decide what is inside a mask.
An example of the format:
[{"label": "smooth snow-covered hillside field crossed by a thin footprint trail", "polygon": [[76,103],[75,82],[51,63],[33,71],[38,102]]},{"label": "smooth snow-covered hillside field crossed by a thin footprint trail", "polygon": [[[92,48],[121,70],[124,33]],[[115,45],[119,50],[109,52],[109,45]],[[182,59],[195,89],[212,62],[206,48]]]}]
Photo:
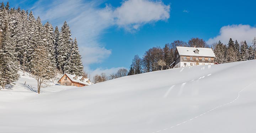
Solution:
[{"label": "smooth snow-covered hillside field crossed by a thin footprint trail", "polygon": [[256,60],[127,76],[37,94],[0,90],[1,133],[255,133]]}]

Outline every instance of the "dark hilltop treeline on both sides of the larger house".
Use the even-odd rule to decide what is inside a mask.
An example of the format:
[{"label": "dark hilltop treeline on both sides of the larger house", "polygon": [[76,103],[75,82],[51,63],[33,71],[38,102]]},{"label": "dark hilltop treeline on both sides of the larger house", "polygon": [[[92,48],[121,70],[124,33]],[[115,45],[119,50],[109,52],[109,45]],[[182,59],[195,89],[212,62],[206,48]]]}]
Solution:
[{"label": "dark hilltop treeline on both sides of the larger house", "polygon": [[212,48],[216,56],[215,62],[217,63],[245,61],[256,58],[256,38],[253,39],[252,46],[248,46],[246,41],[242,41],[239,44],[238,41],[234,42],[231,38],[227,45],[219,41],[219,43],[213,44],[212,46],[207,45],[203,39],[199,38],[191,38],[188,42],[175,40],[172,43],[165,44],[164,48],[159,46],[150,48],[145,51],[142,58],[135,55],[128,75],[172,68],[172,63],[175,60],[176,46]]}]

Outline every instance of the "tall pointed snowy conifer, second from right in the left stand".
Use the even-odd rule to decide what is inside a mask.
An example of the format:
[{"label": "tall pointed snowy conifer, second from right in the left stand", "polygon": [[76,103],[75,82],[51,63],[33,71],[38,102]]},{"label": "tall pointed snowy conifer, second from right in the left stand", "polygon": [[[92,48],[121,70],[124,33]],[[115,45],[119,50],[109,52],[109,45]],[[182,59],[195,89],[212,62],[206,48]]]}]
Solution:
[{"label": "tall pointed snowy conifer, second from right in the left stand", "polygon": [[57,52],[58,52],[57,64],[58,64],[58,68],[63,73],[64,73],[64,66],[66,65],[71,54],[71,46],[72,46],[71,31],[69,29],[67,22],[65,21],[62,26],[61,32],[59,34],[58,47],[57,47]]}]

